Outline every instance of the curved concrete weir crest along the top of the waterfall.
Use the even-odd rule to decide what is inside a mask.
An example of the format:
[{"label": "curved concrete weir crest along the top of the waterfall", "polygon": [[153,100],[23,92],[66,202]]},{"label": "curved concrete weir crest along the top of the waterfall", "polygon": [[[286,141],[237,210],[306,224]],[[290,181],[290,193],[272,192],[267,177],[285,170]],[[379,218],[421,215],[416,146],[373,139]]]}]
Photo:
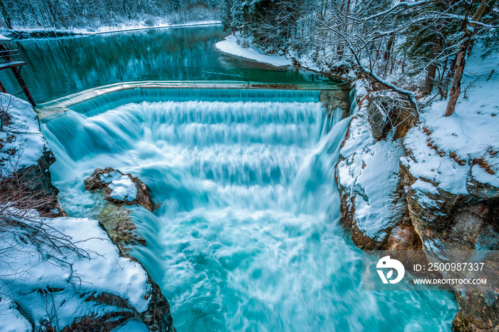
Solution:
[{"label": "curved concrete weir crest along the top of the waterfall", "polygon": [[[38,118],[42,122],[46,122],[54,116],[59,115],[59,113],[66,112],[69,109],[75,110],[81,108],[80,106],[83,105],[87,105],[88,107],[88,104],[93,104],[94,108],[99,108],[101,105],[108,107],[109,104],[118,106],[140,101],[153,102],[168,100],[170,93],[165,91],[175,89],[185,90],[184,97],[190,100],[196,98],[197,95],[199,96],[200,90],[253,90],[253,96],[259,95],[257,91],[263,92],[265,90],[297,91],[297,93],[310,91],[317,94],[317,101],[324,104],[328,115],[331,114],[334,108],[344,110],[344,117],[350,113],[349,92],[351,87],[348,83],[332,85],[326,83],[276,84],[234,81],[141,81],[115,83],[51,100],[38,105],[36,112],[38,113]],[[209,94],[212,98],[216,98],[217,96],[217,93],[213,91]],[[259,95],[258,98],[264,98],[264,95]]]}]

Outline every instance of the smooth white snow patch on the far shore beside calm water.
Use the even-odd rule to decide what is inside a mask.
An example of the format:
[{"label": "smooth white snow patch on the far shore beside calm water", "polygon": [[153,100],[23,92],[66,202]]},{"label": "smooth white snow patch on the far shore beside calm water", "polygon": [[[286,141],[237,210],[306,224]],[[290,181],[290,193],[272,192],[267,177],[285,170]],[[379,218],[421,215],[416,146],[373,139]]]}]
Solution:
[{"label": "smooth white snow patch on the far shore beside calm water", "polygon": [[216,43],[215,47],[223,53],[231,54],[232,56],[240,56],[241,58],[268,63],[276,67],[291,66],[292,64],[291,60],[284,56],[267,56],[254,47],[243,47],[238,43],[239,40],[239,36],[229,35],[225,37],[225,40]]}]

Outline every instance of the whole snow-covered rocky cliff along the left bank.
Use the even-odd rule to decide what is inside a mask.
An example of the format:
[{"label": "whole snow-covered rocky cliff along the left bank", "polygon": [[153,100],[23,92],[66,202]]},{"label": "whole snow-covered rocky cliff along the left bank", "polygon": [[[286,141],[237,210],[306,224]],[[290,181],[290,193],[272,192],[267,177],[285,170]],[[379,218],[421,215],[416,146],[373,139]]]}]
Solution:
[{"label": "whole snow-covered rocky cliff along the left bank", "polygon": [[[140,243],[128,210],[109,202],[125,216],[125,224],[108,232],[114,242],[96,220],[58,217],[63,211],[49,171],[55,157],[36,113],[0,94],[0,118],[0,279],[9,286],[0,295],[7,317],[0,330],[175,331],[158,284],[136,259],[123,256],[122,239]],[[145,194],[137,201],[152,209]]]}]

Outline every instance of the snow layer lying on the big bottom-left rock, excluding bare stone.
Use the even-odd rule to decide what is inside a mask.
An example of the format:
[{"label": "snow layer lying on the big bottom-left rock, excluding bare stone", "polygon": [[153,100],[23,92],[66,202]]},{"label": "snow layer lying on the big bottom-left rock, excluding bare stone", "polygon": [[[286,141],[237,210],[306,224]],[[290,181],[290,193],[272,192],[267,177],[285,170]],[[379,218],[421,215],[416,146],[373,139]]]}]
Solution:
[{"label": "snow layer lying on the big bottom-left rock, excluding bare stone", "polygon": [[88,257],[34,244],[28,238],[23,239],[22,229],[2,232],[0,314],[8,319],[9,326],[22,326],[24,321],[8,301],[14,301],[22,308],[24,317],[35,326],[40,326],[41,321],[49,321],[49,316],[56,313],[61,328],[71,324],[75,317],[130,310],[97,301],[95,297],[99,294],[120,296],[138,312],[148,308],[146,295],[150,285],[146,272],[137,262],[119,256],[118,249],[96,220],[41,219],[34,210],[31,216],[34,222],[43,222],[48,232],[61,232],[71,237],[71,242],[85,250]]}]

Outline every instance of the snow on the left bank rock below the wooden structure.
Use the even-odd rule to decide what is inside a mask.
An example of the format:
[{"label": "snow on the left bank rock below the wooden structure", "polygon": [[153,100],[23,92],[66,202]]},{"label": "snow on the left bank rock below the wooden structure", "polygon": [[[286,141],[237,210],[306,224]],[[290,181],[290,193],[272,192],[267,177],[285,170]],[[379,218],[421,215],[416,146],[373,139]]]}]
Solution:
[{"label": "snow on the left bank rock below the wooden structure", "polygon": [[[2,123],[0,130],[0,174],[7,176],[16,167],[36,165],[43,152],[49,149],[31,104],[0,93],[0,110],[6,110],[11,118],[8,123]],[[10,161],[4,160],[13,149],[17,150],[16,154]]]}]

